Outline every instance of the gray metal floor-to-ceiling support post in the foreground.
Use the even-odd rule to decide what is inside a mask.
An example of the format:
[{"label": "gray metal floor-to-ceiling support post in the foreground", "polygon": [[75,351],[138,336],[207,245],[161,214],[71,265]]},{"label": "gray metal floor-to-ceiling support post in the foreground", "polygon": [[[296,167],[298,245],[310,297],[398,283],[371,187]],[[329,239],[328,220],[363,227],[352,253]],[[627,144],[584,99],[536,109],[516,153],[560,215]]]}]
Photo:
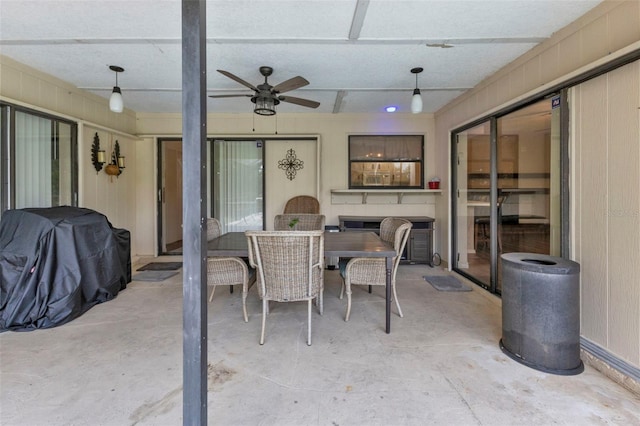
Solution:
[{"label": "gray metal floor-to-ceiling support post in the foreground", "polygon": [[182,0],[183,424],[207,424],[206,0]]}]

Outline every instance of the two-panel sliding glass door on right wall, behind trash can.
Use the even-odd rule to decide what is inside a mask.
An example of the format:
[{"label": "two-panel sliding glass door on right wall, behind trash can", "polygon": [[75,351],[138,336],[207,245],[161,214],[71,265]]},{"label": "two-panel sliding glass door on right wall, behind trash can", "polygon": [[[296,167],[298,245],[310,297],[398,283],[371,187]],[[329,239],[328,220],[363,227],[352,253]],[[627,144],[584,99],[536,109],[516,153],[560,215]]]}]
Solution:
[{"label": "two-panel sliding glass door on right wall, behind trash can", "polygon": [[501,293],[500,255],[560,256],[560,97],[453,134],[453,268]]}]

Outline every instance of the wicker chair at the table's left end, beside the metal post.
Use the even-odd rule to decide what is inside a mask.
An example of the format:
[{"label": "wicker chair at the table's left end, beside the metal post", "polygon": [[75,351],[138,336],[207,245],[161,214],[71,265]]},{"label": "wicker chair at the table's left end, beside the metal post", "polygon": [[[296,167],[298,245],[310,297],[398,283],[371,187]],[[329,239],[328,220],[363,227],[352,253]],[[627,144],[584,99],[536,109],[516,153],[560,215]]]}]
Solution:
[{"label": "wicker chair at the table's left end, beside the metal post", "polygon": [[[215,218],[207,219],[207,241],[222,235],[220,221]],[[213,300],[213,294],[219,285],[242,285],[242,314],[244,322],[249,322],[247,313],[247,295],[249,289],[256,281],[255,269],[250,268],[247,262],[239,257],[208,257],[207,258],[207,285],[212,286],[209,302]]]}]

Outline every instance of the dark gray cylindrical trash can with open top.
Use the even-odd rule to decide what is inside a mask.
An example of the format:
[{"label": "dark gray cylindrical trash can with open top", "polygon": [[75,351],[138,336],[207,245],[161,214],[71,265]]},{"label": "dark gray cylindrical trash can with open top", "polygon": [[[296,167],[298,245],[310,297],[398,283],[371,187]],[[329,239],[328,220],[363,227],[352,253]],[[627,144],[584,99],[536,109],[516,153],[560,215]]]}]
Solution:
[{"label": "dark gray cylindrical trash can with open top", "polygon": [[500,349],[536,370],[580,374],[580,265],[534,253],[501,258]]}]

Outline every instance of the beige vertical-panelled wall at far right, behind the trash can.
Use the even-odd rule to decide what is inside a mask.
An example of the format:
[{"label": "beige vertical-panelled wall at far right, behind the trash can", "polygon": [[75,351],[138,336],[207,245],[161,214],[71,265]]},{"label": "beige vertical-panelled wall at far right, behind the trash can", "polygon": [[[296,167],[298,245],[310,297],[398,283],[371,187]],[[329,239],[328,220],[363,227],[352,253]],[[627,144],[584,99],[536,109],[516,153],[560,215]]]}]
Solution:
[{"label": "beige vertical-panelled wall at far right, behind the trash can", "polygon": [[640,61],[571,95],[582,334],[640,365]]}]

